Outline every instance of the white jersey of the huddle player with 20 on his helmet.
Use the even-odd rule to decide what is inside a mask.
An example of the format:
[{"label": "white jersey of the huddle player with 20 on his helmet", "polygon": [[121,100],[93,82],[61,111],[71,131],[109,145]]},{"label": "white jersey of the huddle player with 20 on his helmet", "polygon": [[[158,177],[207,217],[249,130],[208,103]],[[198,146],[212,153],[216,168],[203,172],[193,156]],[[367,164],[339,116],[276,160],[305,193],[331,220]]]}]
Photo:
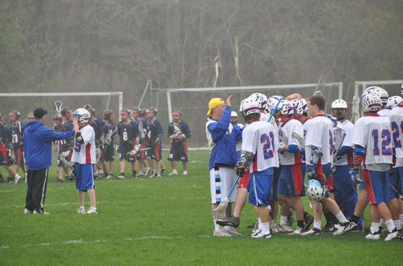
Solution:
[{"label": "white jersey of the huddle player with 20 on his helmet", "polygon": [[[297,133],[302,138],[304,137],[304,129],[301,122],[295,119],[289,119],[280,127],[279,135],[285,145],[297,145],[298,143],[291,137],[291,133]],[[301,157],[299,152],[292,153],[285,151],[284,154],[280,154],[281,165],[293,165],[296,163],[301,163]]]}]

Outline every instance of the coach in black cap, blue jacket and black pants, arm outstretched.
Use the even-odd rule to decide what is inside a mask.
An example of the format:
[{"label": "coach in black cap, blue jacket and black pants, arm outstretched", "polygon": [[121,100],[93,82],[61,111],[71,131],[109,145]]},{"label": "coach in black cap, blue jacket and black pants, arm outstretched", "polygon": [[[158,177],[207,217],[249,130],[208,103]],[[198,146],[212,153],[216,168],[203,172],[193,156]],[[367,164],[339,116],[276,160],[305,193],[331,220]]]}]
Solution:
[{"label": "coach in black cap, blue jacket and black pants, arm outstretched", "polygon": [[49,166],[52,165],[52,141],[70,138],[79,132],[77,118],[73,119],[74,130],[57,133],[43,126],[46,110],[34,111],[35,121],[27,123],[24,131],[25,159],[28,163],[28,189],[24,213],[43,213]]}]

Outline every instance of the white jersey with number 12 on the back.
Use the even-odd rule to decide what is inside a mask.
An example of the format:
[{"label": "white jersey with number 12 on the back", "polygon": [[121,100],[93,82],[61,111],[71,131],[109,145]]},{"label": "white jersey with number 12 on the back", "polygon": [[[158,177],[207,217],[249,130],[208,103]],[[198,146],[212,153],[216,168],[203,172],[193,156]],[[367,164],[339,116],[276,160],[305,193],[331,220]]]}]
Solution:
[{"label": "white jersey with number 12 on the back", "polygon": [[353,144],[365,148],[363,164],[392,163],[390,121],[377,114],[361,117],[354,125]]}]

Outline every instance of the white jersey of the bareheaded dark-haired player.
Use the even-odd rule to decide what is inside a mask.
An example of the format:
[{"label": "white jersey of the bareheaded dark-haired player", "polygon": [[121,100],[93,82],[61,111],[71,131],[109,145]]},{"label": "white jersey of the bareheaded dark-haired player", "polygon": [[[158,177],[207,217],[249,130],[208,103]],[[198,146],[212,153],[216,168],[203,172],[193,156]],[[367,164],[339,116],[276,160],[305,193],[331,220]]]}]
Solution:
[{"label": "white jersey of the bareheaded dark-haired player", "polygon": [[307,124],[305,136],[305,156],[309,160],[311,145],[322,148],[321,164],[333,161],[333,124],[324,115],[317,115]]}]

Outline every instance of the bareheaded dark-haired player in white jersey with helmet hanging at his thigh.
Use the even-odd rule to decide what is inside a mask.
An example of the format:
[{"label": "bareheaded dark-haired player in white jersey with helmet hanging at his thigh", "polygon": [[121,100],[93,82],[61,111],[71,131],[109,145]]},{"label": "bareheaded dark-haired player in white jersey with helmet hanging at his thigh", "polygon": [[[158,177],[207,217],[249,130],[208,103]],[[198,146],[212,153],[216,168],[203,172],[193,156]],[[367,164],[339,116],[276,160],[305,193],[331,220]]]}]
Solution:
[{"label": "bareheaded dark-haired player in white jersey with helmet hanging at his thigh", "polygon": [[[326,182],[331,172],[333,154],[333,124],[325,117],[324,98],[315,95],[309,99],[308,111],[313,118],[310,120],[305,139],[305,157],[308,174],[308,196],[312,200],[314,216],[313,228],[301,235],[322,234],[321,204],[334,214],[340,222],[338,231],[333,234],[345,234],[352,229],[337,203],[329,198]],[[307,159],[308,160],[308,159]]]}]

